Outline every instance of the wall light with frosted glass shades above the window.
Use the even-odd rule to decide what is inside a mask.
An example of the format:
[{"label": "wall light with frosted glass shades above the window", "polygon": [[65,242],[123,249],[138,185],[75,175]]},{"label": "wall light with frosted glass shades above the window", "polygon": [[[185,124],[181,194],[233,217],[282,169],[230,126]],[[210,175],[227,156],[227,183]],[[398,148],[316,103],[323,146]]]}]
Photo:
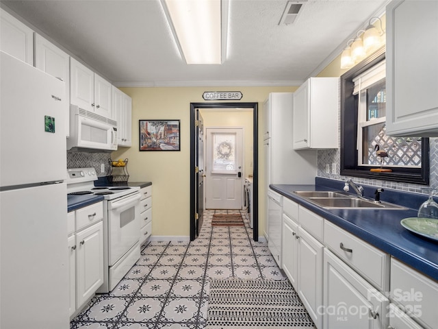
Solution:
[{"label": "wall light with frosted glass shades above the window", "polygon": [[[371,24],[373,19],[378,19],[381,24],[381,32]],[[375,23],[376,21],[374,21]],[[372,17],[365,30],[360,29],[354,39],[347,42],[347,47],[342,51],[341,69],[350,69],[352,66],[361,62],[365,57],[382,47],[385,42],[383,40],[382,21],[378,17]],[[350,43],[351,42],[351,43]]]}]

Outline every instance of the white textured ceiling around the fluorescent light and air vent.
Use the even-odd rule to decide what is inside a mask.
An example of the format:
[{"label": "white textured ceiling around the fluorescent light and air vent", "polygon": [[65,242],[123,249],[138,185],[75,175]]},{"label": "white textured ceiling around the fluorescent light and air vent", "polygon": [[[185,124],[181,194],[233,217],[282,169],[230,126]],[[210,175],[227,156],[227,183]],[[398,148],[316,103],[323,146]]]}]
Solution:
[{"label": "white textured ceiling around the fluorescent light and air vent", "polygon": [[116,86],[296,85],[387,2],[309,0],[294,24],[280,26],[287,1],[230,0],[227,60],[187,65],[159,0],[1,1]]}]

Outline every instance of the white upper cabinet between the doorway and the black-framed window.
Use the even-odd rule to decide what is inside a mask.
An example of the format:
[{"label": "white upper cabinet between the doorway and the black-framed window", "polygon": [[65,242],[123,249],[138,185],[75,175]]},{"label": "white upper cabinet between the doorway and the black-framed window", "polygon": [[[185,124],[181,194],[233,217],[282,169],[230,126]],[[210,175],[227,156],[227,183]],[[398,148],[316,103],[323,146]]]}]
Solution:
[{"label": "white upper cabinet between the doorway and the black-framed window", "polygon": [[339,147],[339,78],[311,77],[294,93],[294,149]]}]

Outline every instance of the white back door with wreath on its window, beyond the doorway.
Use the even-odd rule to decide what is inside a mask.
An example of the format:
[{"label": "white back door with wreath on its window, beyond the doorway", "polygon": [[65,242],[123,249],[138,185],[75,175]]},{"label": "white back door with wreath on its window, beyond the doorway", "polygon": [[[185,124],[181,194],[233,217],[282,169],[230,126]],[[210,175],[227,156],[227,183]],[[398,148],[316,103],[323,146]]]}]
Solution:
[{"label": "white back door with wreath on its window, beyond the doorway", "polygon": [[243,129],[207,128],[205,208],[242,209]]}]

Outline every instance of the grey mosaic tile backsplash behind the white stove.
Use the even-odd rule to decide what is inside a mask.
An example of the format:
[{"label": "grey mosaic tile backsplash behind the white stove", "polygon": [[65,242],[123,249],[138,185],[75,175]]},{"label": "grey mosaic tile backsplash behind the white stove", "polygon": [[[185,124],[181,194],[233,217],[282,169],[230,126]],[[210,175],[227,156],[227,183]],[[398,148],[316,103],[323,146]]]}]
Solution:
[{"label": "grey mosaic tile backsplash behind the white stove", "polygon": [[[96,169],[97,175],[106,176],[110,164],[108,159],[111,158],[110,153],[105,152],[77,152],[77,151],[67,151],[67,168],[90,168],[94,167]],[[105,170],[101,172],[101,164],[104,165]]]}]

